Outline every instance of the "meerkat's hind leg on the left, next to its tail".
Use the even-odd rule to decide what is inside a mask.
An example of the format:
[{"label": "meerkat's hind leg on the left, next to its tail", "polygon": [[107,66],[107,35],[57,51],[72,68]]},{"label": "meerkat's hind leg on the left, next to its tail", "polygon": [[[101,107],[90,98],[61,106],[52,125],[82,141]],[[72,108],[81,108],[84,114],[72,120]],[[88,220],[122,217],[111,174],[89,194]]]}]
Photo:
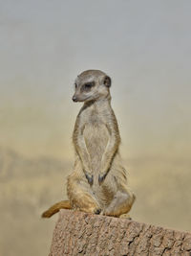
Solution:
[{"label": "meerkat's hind leg on the left, next to its tail", "polygon": [[101,212],[101,207],[86,179],[70,175],[68,177],[67,191],[74,209],[94,214]]}]

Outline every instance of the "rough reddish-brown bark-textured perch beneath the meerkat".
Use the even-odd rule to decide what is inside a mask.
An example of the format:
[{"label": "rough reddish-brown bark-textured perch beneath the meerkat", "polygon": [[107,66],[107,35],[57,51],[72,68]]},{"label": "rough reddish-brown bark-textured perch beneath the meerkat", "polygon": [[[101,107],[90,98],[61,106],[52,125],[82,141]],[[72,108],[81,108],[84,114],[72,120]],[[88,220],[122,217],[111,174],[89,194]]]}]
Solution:
[{"label": "rough reddish-brown bark-textured perch beneath the meerkat", "polygon": [[189,255],[191,233],[61,210],[50,256],[62,255]]}]

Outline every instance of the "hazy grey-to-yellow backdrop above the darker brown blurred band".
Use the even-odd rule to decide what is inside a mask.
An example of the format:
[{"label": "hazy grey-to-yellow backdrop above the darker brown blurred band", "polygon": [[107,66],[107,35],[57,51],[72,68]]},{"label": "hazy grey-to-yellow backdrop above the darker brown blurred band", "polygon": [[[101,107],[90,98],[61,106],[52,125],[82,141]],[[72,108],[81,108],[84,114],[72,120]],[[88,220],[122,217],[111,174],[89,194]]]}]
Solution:
[{"label": "hazy grey-to-yellow backdrop above the darker brown blurred band", "polygon": [[111,76],[122,156],[189,159],[191,1],[0,0],[0,147],[73,157],[74,79]]}]

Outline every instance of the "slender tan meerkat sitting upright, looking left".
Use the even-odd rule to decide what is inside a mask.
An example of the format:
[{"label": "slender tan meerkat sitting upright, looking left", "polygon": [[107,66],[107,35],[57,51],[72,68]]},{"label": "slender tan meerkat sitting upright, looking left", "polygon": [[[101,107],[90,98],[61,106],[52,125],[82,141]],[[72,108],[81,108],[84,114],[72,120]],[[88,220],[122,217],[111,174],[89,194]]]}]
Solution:
[{"label": "slender tan meerkat sitting upright, looking left", "polygon": [[74,81],[74,102],[83,102],[74,125],[74,172],[67,179],[69,200],[43,213],[50,218],[59,209],[120,217],[135,201],[119,155],[120,135],[111,106],[111,78],[87,70]]}]

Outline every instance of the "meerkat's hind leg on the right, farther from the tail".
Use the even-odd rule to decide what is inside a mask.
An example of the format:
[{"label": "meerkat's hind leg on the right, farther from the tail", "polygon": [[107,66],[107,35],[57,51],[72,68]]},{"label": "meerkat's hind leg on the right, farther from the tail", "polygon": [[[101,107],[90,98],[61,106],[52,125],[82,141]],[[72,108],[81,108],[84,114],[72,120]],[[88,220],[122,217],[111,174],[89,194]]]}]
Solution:
[{"label": "meerkat's hind leg on the right, farther from the tail", "polygon": [[117,191],[117,194],[105,209],[104,215],[119,217],[127,214],[135,201],[135,195],[130,191]]}]

